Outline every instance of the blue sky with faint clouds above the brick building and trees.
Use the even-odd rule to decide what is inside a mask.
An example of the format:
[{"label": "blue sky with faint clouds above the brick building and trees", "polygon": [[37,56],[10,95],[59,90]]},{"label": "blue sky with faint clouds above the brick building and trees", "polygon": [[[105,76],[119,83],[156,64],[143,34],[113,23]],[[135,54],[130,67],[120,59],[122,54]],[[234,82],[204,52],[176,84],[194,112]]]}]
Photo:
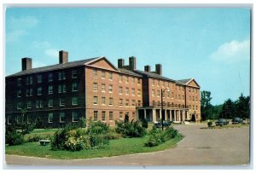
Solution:
[{"label": "blue sky with faint clouds above the brick building and trees", "polygon": [[172,79],[195,78],[212,104],[250,87],[250,9],[245,8],[9,8],[5,15],[5,73],[32,66],[106,56],[137,57],[137,69],[162,64]]}]

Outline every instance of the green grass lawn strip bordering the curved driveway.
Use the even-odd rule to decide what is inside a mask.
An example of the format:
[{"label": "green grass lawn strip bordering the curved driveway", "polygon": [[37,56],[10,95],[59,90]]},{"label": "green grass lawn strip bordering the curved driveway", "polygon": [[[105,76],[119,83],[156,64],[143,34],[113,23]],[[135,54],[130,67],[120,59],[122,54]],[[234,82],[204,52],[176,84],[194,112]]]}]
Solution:
[{"label": "green grass lawn strip bordering the curved driveway", "polygon": [[[41,131],[44,133],[44,131]],[[38,134],[41,134],[38,133]],[[148,136],[141,138],[121,138],[119,140],[109,141],[109,145],[105,148],[94,150],[82,150],[79,152],[70,151],[52,151],[49,146],[40,146],[39,142],[27,142],[20,146],[6,146],[6,154],[34,156],[51,159],[89,159],[89,158],[102,158],[110,156],[125,155],[131,153],[149,153],[168,148],[176,147],[177,142],[181,141],[183,136],[178,135],[171,141],[157,147],[144,147],[144,142],[148,140]]]}]

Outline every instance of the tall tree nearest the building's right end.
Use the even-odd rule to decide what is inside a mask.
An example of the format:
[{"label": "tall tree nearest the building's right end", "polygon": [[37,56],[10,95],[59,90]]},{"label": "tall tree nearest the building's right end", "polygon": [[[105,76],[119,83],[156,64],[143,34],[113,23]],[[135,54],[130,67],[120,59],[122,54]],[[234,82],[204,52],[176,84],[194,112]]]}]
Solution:
[{"label": "tall tree nearest the building's right end", "polygon": [[201,91],[201,118],[202,120],[210,118],[212,114],[212,104],[211,104],[211,92],[207,90]]}]

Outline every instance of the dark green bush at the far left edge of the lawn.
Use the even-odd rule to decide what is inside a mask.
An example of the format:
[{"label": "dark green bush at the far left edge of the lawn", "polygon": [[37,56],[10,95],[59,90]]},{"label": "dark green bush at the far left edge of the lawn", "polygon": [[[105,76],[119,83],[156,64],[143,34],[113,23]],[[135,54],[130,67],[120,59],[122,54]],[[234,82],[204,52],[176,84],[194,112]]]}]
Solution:
[{"label": "dark green bush at the far left edge of the lawn", "polygon": [[5,133],[5,143],[9,146],[20,145],[24,142],[24,135],[17,130],[15,127],[8,126]]}]

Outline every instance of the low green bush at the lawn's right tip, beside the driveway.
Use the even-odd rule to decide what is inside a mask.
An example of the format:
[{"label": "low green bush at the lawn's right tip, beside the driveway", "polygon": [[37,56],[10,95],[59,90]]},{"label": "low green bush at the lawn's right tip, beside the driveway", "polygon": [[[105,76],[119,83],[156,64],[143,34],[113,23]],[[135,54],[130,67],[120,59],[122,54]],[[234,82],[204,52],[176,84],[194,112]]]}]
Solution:
[{"label": "low green bush at the lawn's right tip, beside the driveway", "polygon": [[172,127],[166,128],[166,130],[160,130],[153,127],[149,132],[149,139],[145,142],[145,146],[154,147],[158,146],[161,143],[169,141],[177,136],[177,130],[174,130]]}]

